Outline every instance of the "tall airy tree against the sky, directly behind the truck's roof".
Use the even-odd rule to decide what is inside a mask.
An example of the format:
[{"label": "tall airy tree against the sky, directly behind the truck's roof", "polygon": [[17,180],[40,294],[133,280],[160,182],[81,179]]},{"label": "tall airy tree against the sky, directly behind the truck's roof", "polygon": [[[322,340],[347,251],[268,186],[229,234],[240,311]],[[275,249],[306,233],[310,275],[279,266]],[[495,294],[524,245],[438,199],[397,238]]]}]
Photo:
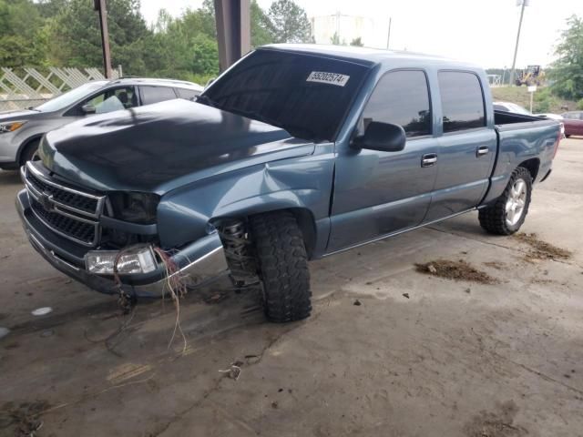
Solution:
[{"label": "tall airy tree against the sky, directly behind the truck's roof", "polygon": [[277,0],[267,14],[273,25],[276,43],[310,43],[313,41],[312,26],[308,15],[293,0]]}]

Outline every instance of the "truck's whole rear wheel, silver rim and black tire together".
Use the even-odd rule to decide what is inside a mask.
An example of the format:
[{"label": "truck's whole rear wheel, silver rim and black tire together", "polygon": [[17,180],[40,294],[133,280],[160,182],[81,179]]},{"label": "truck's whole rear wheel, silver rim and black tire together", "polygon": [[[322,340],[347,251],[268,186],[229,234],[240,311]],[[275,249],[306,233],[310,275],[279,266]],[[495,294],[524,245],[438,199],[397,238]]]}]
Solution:
[{"label": "truck's whole rear wheel, silver rim and black tire together", "polygon": [[519,167],[512,172],[506,189],[496,203],[479,210],[480,226],[491,234],[514,234],[527,218],[531,194],[530,173],[527,168]]}]

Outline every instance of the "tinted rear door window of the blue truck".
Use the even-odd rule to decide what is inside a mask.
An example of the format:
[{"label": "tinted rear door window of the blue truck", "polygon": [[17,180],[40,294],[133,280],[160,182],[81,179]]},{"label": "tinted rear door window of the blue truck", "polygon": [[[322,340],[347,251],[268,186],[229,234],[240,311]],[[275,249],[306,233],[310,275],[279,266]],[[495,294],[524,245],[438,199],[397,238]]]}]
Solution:
[{"label": "tinted rear door window of the blue truck", "polygon": [[444,133],[486,126],[486,111],[480,80],[473,73],[441,71]]}]

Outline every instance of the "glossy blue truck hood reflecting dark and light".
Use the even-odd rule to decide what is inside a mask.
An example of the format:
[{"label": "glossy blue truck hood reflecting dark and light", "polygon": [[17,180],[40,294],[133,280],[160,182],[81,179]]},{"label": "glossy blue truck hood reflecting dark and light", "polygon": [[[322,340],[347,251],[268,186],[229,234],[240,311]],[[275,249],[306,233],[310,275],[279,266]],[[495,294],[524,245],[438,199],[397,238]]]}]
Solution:
[{"label": "glossy blue truck hood reflecting dark and light", "polygon": [[170,100],[89,117],[46,134],[46,168],[82,187],[159,195],[226,171],[313,153],[280,127]]}]

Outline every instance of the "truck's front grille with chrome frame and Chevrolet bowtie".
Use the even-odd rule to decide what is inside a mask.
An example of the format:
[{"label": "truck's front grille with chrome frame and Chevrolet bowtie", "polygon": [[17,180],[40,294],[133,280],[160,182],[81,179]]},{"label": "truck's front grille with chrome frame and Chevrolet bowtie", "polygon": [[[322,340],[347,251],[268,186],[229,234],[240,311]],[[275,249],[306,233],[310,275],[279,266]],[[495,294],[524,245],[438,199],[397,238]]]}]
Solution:
[{"label": "truck's front grille with chrome frame and Chevrolet bowtie", "polygon": [[33,213],[48,229],[66,239],[97,246],[101,229],[98,219],[105,197],[66,187],[46,176],[37,165],[28,162],[22,169]]}]

